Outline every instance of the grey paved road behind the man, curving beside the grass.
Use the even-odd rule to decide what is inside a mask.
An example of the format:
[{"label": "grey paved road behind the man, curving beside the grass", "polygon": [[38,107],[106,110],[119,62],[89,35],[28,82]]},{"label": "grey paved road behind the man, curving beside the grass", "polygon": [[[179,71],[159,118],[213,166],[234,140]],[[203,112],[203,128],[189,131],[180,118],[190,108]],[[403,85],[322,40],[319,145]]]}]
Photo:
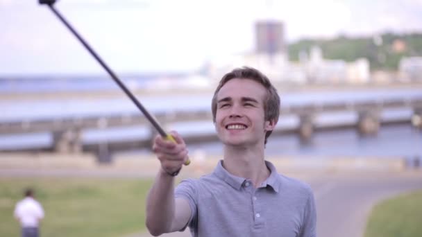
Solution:
[{"label": "grey paved road behind the man, curving beside the grass", "polygon": [[[319,237],[362,237],[372,207],[385,198],[422,188],[422,171],[295,175],[314,190]],[[150,237],[134,234],[130,237]],[[188,237],[183,233],[163,237]],[[128,236],[129,237],[129,236]]]}]

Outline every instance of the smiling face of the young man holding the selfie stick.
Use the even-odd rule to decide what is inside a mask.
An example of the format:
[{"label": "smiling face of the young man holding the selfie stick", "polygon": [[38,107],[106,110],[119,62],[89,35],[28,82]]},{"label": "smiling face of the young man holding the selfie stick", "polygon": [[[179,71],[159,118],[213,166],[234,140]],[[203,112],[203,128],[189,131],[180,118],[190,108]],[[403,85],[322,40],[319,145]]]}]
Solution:
[{"label": "smiling face of the young man holding the selfie stick", "polygon": [[267,91],[250,79],[234,78],[217,94],[215,128],[227,146],[264,146],[265,132],[273,130],[273,122],[264,119],[264,98]]}]

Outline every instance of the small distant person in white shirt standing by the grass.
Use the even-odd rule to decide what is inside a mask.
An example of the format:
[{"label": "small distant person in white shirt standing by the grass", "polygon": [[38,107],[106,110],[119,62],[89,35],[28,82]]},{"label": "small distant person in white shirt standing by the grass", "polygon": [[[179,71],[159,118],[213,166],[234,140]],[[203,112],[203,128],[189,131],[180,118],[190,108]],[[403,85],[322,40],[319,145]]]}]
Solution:
[{"label": "small distant person in white shirt standing by the grass", "polygon": [[44,218],[44,210],[40,202],[34,198],[31,188],[26,189],[25,198],[15,207],[15,218],[21,223],[22,237],[38,237],[40,220]]}]

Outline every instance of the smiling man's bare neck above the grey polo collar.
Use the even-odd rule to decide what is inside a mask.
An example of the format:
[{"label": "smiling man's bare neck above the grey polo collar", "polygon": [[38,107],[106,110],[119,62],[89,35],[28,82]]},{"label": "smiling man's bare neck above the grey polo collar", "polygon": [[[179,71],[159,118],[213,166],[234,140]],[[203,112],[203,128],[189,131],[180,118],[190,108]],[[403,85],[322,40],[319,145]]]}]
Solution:
[{"label": "smiling man's bare neck above the grey polo collar", "polygon": [[258,187],[270,175],[264,161],[264,147],[224,146],[223,167],[237,177],[251,179]]}]

